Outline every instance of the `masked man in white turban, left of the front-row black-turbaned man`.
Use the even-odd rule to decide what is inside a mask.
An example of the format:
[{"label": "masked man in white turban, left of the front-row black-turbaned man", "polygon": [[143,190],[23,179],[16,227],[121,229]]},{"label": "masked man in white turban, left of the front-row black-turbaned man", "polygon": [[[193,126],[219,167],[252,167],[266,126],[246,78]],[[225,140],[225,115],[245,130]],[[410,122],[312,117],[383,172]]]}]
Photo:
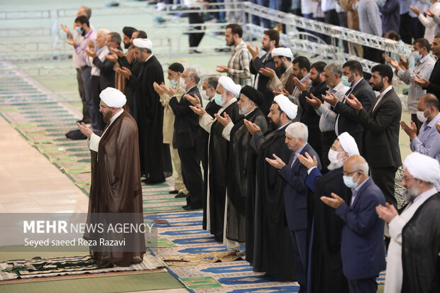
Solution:
[{"label": "masked man in white turban, left of the front-row black-turbaned man", "polygon": [[[243,117],[239,113],[237,104],[240,90],[241,86],[233,82],[230,77],[219,78],[214,101],[221,108],[214,114],[214,117],[217,115],[228,117],[232,123],[236,123],[239,118]],[[199,104],[199,99],[189,95],[185,97],[194,105],[189,107],[200,116],[199,125],[209,133],[207,209],[204,214],[207,219],[207,230],[214,234],[217,241],[223,241],[229,143],[222,135],[224,126],[217,118],[207,114]]]}]

